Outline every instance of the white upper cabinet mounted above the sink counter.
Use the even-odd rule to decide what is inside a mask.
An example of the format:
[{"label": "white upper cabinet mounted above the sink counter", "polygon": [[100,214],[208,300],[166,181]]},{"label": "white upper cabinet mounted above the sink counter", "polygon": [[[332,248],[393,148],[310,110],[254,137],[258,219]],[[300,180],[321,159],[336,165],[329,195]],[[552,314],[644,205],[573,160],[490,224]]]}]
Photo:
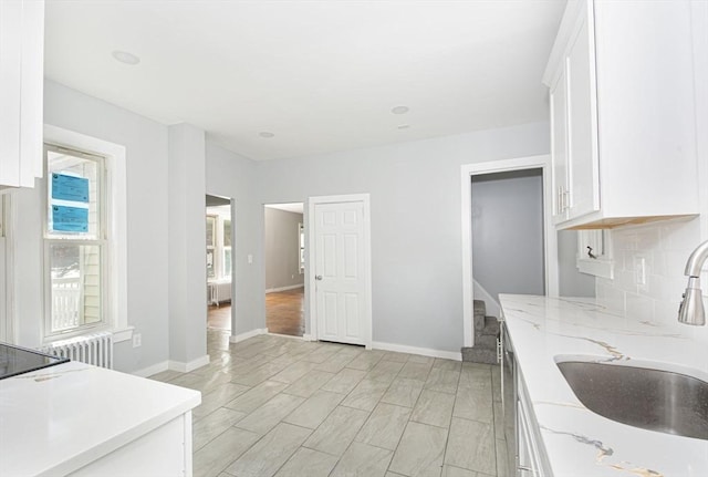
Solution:
[{"label": "white upper cabinet mounted above the sink counter", "polygon": [[559,228],[696,215],[690,0],[570,0],[550,89]]}]

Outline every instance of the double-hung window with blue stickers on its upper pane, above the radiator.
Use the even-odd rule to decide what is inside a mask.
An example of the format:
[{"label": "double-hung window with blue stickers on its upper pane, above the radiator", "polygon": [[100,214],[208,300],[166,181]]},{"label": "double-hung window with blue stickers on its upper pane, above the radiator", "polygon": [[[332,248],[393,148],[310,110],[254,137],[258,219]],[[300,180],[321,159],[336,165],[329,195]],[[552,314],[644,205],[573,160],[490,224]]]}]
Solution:
[{"label": "double-hung window with blue stickers on its upper pane, above the radiator", "polygon": [[45,147],[45,335],[106,324],[105,158]]}]

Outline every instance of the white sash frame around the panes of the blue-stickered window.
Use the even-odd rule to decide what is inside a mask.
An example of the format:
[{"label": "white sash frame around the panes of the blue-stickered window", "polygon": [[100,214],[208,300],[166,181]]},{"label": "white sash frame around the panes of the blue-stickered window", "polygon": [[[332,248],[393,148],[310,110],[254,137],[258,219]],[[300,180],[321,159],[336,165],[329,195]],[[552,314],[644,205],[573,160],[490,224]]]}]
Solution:
[{"label": "white sash frame around the panes of the blue-stickered window", "polygon": [[[50,170],[49,170],[49,153],[66,154],[74,157],[79,157],[85,160],[95,162],[96,165],[96,222],[97,229],[95,238],[81,237],[74,234],[61,234],[49,230],[49,216],[51,208],[51,198],[49,197],[50,190]],[[107,261],[111,255],[111,243],[107,239],[107,221],[108,221],[108,207],[107,207],[107,188],[108,188],[108,170],[107,170],[107,157],[100,154],[87,153],[76,149],[74,147],[60,146],[49,142],[44,143],[43,148],[43,173],[44,182],[42,187],[42,283],[44,289],[44,303],[43,303],[43,339],[45,342],[65,339],[69,336],[75,336],[87,332],[105,330],[111,328],[111,315],[108,310],[111,309],[111,295],[106,293],[106,290],[111,289],[111,276],[107,272]],[[52,317],[52,278],[51,278],[51,247],[52,245],[77,245],[77,246],[93,246],[97,247],[100,255],[100,294],[98,294],[98,309],[100,320],[92,323],[85,323],[85,319],[80,317],[80,324],[65,330],[53,329]],[[83,304],[82,304],[83,307]]]}]

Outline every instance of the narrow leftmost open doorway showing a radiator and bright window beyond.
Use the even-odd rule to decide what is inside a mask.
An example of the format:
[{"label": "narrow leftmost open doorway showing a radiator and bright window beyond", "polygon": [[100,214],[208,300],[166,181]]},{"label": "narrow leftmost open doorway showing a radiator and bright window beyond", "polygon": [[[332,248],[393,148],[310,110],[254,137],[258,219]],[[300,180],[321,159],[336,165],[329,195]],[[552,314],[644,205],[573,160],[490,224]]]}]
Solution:
[{"label": "narrow leftmost open doorway showing a radiator and bright window beyond", "polygon": [[232,204],[218,196],[206,196],[207,221],[207,328],[231,331],[233,259]]}]

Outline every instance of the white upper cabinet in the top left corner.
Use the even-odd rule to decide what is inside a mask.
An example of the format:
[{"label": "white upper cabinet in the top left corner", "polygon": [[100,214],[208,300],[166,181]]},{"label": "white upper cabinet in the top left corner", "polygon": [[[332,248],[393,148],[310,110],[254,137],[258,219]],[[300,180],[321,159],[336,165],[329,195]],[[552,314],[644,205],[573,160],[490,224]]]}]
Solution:
[{"label": "white upper cabinet in the top left corner", "polygon": [[44,1],[0,0],[0,189],[42,176]]}]

